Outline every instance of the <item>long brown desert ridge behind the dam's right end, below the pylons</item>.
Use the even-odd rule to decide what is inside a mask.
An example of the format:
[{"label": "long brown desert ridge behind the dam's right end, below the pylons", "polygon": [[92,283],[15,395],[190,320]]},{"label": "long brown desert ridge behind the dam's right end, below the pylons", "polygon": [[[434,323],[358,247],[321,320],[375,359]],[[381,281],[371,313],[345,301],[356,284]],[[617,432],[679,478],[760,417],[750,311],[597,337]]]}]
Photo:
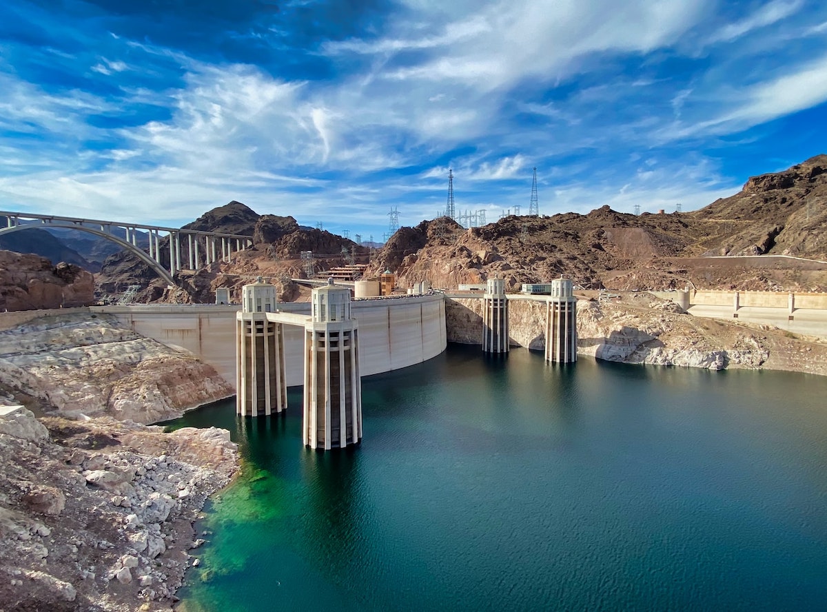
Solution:
[{"label": "long brown desert ridge behind the dam's right end, below the pylons", "polygon": [[[748,179],[739,194],[693,213],[617,213],[507,217],[463,229],[449,219],[394,234],[370,274],[395,270],[401,286],[480,283],[493,276],[509,290],[565,275],[586,288],[827,289],[827,155]],[[701,257],[705,256],[705,257]]]}]

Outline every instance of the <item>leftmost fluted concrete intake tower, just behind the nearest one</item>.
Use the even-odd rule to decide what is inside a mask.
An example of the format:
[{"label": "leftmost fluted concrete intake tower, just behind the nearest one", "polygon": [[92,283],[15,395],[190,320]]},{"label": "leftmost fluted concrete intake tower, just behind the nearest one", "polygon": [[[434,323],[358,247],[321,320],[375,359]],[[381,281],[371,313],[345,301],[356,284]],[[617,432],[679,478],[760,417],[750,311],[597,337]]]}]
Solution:
[{"label": "leftmost fluted concrete intake tower, just behind the nearest one", "polygon": [[275,307],[275,287],[261,277],[241,289],[241,311],[236,313],[236,414],[241,416],[287,408],[283,326],[267,319]]}]

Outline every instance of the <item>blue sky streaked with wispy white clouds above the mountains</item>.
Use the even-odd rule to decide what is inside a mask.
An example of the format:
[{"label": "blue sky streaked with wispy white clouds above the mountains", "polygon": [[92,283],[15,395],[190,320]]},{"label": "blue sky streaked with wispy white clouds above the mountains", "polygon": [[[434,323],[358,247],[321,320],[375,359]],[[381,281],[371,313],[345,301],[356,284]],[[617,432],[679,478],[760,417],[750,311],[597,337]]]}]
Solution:
[{"label": "blue sky streaked with wispy white clouds above the mountains", "polygon": [[823,0],[5,0],[0,209],[351,237],[700,208],[827,152]]}]

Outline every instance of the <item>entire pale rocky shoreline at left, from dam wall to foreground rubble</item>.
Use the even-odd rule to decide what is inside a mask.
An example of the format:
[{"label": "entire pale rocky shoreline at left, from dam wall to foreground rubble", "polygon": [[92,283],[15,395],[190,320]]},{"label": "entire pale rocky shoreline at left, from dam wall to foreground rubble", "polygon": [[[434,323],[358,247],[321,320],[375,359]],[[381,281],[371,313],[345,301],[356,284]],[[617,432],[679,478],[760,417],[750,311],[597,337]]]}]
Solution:
[{"label": "entire pale rocky shoreline at left, from dam wall to foreground rubble", "polygon": [[142,423],[232,394],[108,316],[0,332],[0,610],[171,610],[238,452],[224,429]]}]

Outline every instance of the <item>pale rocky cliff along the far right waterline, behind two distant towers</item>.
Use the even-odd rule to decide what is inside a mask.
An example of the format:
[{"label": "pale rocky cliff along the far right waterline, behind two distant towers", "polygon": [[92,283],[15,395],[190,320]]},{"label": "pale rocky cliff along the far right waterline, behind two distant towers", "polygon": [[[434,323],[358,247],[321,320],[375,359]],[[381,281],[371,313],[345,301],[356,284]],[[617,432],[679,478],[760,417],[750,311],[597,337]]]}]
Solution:
[{"label": "pale rocky cliff along the far right waterline, behind two distant towers", "polygon": [[[482,300],[446,302],[448,341],[480,344]],[[509,300],[513,346],[545,348],[545,304]],[[656,366],[766,368],[827,375],[827,342],[767,326],[749,326],[683,313],[646,293],[577,303],[577,352],[605,361]]]}]

